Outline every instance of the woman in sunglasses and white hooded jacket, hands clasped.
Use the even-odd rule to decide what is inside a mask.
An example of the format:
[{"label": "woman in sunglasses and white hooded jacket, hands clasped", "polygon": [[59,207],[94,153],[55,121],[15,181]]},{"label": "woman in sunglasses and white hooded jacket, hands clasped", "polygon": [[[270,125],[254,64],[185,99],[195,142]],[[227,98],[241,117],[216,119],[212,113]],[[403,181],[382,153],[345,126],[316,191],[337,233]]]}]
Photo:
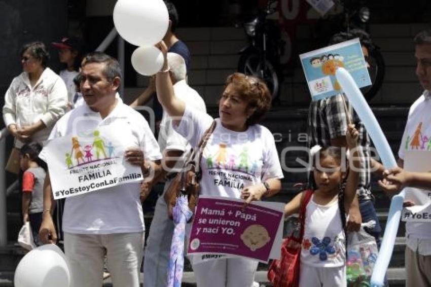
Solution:
[{"label": "woman in sunglasses and white hooded jacket, hands clasped", "polygon": [[63,80],[47,67],[49,53],[45,45],[25,44],[20,56],[23,71],[13,79],[3,106],[3,119],[17,148],[30,140],[43,144],[67,105]]}]

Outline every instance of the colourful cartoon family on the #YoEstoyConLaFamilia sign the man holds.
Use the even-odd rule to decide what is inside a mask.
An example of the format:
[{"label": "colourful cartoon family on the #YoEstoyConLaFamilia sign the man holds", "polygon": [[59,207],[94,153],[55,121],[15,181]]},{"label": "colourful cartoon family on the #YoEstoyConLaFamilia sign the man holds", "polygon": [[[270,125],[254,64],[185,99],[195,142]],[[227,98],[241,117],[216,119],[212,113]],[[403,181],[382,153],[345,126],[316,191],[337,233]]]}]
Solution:
[{"label": "colourful cartoon family on the #YoEstoyConLaFamilia sign the man holds", "polygon": [[[93,143],[91,145],[85,145],[84,148],[82,148],[77,136],[71,138],[72,149],[70,153],[65,153],[67,168],[74,166],[73,158],[76,160],[76,165],[97,161],[102,155],[103,159],[112,158],[115,150],[112,142],[106,145],[104,140],[100,137],[100,132],[98,130],[93,132],[93,136]],[[93,159],[93,153],[96,154],[95,159]]]}]

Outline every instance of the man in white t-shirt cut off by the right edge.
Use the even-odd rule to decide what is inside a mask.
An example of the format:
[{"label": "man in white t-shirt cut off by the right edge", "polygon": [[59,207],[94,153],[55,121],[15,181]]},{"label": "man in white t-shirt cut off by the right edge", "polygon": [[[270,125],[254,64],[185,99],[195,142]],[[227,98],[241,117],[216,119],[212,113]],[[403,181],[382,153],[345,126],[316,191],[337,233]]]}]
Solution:
[{"label": "man in white t-shirt cut off by the right edge", "polygon": [[[406,153],[431,153],[431,29],[421,31],[414,38],[415,57],[417,60],[416,75],[420,84],[424,88],[423,94],[410,107],[406,128],[398,152],[398,165],[404,167],[411,165],[406,157]],[[426,139],[425,139],[426,138]],[[393,180],[404,173],[400,169],[392,169]],[[390,180],[391,176],[388,177]],[[387,191],[399,191],[401,185],[396,190],[391,188],[391,182],[380,183]],[[410,184],[407,183],[409,186]],[[412,183],[414,186],[414,183]],[[429,186],[429,185],[428,185]],[[425,188],[426,185],[417,187]],[[406,200],[409,204],[425,205],[429,204],[429,198],[418,199],[415,192],[428,194],[429,188],[422,191],[407,190]],[[406,286],[431,286],[431,221],[407,221],[406,223]]]}]

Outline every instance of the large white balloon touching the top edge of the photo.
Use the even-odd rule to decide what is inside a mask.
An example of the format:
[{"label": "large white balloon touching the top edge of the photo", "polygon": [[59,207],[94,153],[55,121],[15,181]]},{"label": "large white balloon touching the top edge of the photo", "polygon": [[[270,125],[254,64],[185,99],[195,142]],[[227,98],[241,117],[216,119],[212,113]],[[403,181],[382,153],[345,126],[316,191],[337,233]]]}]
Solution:
[{"label": "large white balloon touching the top edge of the photo", "polygon": [[117,1],[113,15],[118,33],[136,46],[160,42],[169,25],[168,10],[161,0]]}]

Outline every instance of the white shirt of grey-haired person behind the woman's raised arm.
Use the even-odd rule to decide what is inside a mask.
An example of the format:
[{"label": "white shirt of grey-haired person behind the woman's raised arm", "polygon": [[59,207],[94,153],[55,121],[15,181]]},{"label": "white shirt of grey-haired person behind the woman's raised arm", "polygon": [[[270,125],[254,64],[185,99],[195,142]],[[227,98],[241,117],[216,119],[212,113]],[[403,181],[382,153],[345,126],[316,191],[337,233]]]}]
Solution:
[{"label": "white shirt of grey-haired person behind the woman's raised arm", "polygon": [[[179,81],[173,85],[175,96],[182,99],[187,105],[194,107],[194,109],[206,113],[205,102],[201,96],[194,89],[189,87],[185,80]],[[163,117],[160,122],[159,132],[159,147],[161,151],[164,150],[190,150],[190,144],[183,136],[179,135],[172,127],[172,119],[163,111]],[[183,154],[183,158],[186,153]],[[181,168],[183,166],[182,160],[177,160],[175,167]]]}]

